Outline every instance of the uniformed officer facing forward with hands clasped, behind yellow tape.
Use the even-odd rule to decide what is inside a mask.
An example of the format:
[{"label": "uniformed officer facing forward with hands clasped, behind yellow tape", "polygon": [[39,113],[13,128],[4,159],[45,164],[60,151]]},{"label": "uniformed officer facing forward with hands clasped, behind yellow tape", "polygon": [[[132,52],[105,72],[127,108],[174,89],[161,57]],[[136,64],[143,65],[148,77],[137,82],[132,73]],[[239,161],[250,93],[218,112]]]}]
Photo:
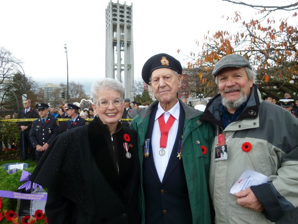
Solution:
[{"label": "uniformed officer facing forward with hands clasped, behind yellow tape", "polygon": [[52,140],[60,134],[60,131],[58,120],[48,116],[49,105],[38,103],[36,108],[40,117],[32,122],[29,136],[33,148],[36,149],[36,162],[38,162]]}]

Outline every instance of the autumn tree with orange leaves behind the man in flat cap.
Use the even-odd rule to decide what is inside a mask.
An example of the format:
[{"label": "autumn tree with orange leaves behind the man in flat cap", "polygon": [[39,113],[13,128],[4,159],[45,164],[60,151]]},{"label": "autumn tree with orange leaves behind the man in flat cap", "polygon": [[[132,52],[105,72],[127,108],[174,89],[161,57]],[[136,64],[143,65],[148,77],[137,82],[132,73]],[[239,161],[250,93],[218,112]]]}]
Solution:
[{"label": "autumn tree with orange leaves behind the man in flat cap", "polygon": [[[227,30],[218,31],[211,36],[204,36],[206,42],[202,52],[193,63],[189,63],[190,70],[197,70],[198,87],[204,86],[207,90],[205,96],[207,93],[211,93],[211,96],[214,93],[211,72],[215,63],[227,54],[238,53],[245,56],[257,71],[256,83],[260,92],[277,99],[283,98],[285,92],[297,97],[297,24],[291,25],[288,21],[296,18],[298,2],[287,6],[255,6],[231,0],[223,1],[253,7],[261,18],[246,22],[242,21],[239,12],[235,12],[233,18],[226,19],[240,24],[241,31],[234,34]],[[278,20],[269,17],[276,10],[289,11],[288,17]]]}]

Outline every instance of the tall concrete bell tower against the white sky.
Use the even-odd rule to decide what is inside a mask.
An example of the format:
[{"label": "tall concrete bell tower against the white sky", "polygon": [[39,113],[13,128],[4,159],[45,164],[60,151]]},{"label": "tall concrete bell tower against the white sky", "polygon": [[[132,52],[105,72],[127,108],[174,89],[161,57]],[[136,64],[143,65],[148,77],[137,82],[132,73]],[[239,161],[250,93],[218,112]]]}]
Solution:
[{"label": "tall concrete bell tower against the white sky", "polygon": [[105,10],[105,77],[124,83],[125,98],[133,100],[134,44],[132,4],[110,1]]}]

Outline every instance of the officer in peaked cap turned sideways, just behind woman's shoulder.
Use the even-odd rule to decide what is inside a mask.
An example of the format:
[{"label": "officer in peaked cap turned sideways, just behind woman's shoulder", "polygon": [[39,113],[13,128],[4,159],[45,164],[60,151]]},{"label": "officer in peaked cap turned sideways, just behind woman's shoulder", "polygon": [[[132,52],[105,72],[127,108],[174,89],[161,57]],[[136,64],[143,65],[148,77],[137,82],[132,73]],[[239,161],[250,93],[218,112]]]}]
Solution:
[{"label": "officer in peaked cap turned sideways, just behind woman's shoulder", "polygon": [[70,118],[66,121],[67,130],[89,124],[86,119],[79,116],[78,112],[80,109],[80,107],[73,103],[67,103],[67,108],[64,108],[64,111],[66,111]]}]

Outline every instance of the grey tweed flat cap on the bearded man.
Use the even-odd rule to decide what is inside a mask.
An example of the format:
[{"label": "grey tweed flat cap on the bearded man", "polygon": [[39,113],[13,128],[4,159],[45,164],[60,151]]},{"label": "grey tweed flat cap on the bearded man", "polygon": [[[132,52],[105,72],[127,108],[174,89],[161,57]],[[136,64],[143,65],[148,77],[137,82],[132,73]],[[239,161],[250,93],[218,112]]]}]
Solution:
[{"label": "grey tweed flat cap on the bearded man", "polygon": [[229,54],[221,58],[215,64],[214,69],[212,71],[212,75],[216,77],[223,68],[227,68],[227,67],[234,67],[234,68],[248,67],[252,69],[252,67],[249,65],[249,61],[247,61],[247,59],[242,55]]}]

